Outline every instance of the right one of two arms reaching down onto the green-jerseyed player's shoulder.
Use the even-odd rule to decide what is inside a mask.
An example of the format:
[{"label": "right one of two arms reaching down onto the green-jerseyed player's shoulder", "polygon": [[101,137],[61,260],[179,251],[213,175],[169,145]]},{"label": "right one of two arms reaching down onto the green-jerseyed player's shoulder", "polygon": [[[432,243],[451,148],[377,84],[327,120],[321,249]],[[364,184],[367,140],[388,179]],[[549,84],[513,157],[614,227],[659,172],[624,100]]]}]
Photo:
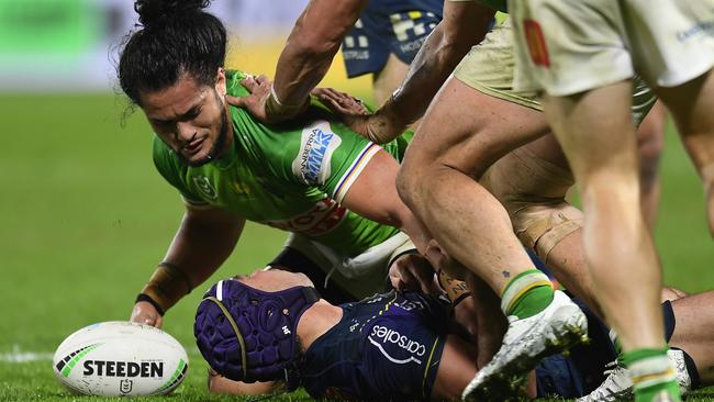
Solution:
[{"label": "right one of two arms reaching down onto the green-jerseyed player's shoulder", "polygon": [[461,58],[483,40],[494,15],[495,10],[473,1],[445,1],[444,19],[414,57],[402,85],[375,114],[345,116],[346,123],[378,144],[395,138],[424,114]]}]

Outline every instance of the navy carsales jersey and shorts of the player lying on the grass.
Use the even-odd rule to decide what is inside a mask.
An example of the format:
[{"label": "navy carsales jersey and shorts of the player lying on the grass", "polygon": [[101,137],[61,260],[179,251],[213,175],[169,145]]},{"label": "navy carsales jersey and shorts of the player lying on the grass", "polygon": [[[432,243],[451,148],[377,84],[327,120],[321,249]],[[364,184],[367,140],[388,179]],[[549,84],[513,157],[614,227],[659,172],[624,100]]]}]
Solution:
[{"label": "navy carsales jersey and shorts of the player lying on the grass", "polygon": [[[589,345],[543,359],[536,366],[538,398],[577,398],[605,379],[617,353],[607,326],[580,301],[588,317]],[[428,400],[449,332],[449,304],[417,292],[389,292],[343,304],[338,324],[305,351],[301,384],[315,399]],[[666,333],[674,316],[662,305]]]}]

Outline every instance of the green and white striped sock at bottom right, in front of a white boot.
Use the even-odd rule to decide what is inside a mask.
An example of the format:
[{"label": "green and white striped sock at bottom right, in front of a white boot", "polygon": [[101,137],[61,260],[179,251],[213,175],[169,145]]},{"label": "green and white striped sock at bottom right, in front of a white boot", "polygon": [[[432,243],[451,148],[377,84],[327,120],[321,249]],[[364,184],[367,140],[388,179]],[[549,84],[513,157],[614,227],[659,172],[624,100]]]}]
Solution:
[{"label": "green and white striped sock at bottom right, in front of a white boot", "polygon": [[635,402],[650,402],[661,393],[671,401],[680,402],[677,372],[667,356],[667,347],[643,348],[622,354],[623,364],[629,369],[635,386]]}]

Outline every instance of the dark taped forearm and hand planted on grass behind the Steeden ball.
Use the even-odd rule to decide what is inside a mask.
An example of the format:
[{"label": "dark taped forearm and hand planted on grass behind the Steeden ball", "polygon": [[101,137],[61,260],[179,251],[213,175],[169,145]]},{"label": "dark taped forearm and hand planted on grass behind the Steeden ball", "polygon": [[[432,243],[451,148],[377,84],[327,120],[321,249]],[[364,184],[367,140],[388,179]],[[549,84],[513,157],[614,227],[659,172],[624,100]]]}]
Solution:
[{"label": "dark taped forearm and hand planted on grass behind the Steeden ball", "polygon": [[163,263],[141,291],[131,321],[160,326],[161,315],[231,255],[245,220],[217,208],[187,205]]}]

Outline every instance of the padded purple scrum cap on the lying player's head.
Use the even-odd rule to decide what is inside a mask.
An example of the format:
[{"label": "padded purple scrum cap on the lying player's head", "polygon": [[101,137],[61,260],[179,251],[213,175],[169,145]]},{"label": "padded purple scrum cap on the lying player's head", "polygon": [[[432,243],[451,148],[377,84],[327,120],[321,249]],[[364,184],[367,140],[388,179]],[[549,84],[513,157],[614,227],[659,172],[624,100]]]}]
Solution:
[{"label": "padded purple scrum cap on the lying player's head", "polygon": [[231,380],[289,379],[298,356],[298,321],[317,300],[310,287],[265,292],[222,280],[199,304],[196,343],[211,368]]}]

